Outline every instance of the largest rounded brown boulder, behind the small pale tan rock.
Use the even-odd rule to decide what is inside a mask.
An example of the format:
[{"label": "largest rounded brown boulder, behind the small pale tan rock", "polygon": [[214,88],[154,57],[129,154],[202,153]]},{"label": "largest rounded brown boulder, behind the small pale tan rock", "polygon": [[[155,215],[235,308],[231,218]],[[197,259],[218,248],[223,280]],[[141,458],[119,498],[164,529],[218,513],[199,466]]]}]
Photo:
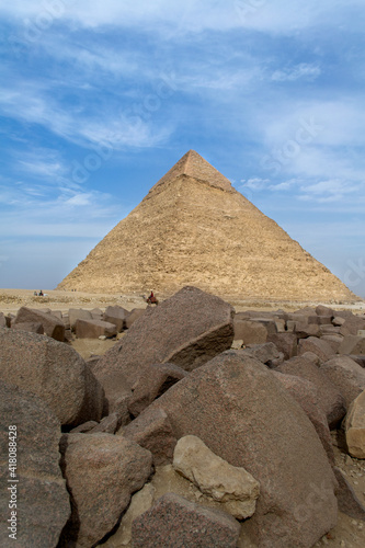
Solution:
[{"label": "largest rounded brown boulder, behind the small pale tan rock", "polygon": [[260,482],[256,511],[243,524],[260,547],[311,547],[334,526],[335,479],[316,430],[256,359],[225,352],[144,413],[155,409],[166,411],[178,438],[196,435]]}]

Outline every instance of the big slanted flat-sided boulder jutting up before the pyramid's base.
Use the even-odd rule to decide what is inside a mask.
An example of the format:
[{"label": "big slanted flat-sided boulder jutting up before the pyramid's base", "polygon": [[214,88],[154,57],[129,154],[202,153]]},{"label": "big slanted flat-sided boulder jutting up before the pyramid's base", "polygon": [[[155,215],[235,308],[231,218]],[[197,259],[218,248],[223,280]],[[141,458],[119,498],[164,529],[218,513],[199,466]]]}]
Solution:
[{"label": "big slanted flat-sided boulder jutting up before the pyramid's base", "polygon": [[193,370],[229,349],[232,317],[230,305],[195,287],[146,310],[94,368],[107,399],[113,402],[119,385],[130,388],[151,364],[171,362]]}]

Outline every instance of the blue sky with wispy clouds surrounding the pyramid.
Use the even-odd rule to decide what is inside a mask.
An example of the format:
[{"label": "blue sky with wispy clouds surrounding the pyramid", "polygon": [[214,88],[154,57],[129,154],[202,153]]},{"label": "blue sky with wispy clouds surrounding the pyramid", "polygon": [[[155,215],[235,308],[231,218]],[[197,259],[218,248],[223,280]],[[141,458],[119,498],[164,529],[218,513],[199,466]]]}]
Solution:
[{"label": "blue sky with wispy clouds surrounding the pyramid", "polygon": [[365,297],[363,0],[12,0],[0,27],[0,287],[54,288],[195,149]]}]

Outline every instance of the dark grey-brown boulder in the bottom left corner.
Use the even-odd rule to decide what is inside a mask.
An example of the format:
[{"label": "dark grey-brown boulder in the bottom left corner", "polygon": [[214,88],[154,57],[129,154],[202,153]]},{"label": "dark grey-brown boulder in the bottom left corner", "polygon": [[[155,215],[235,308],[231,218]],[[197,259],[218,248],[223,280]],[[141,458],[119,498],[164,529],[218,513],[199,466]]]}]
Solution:
[{"label": "dark grey-brown boulder in the bottom left corner", "polygon": [[[69,495],[59,468],[60,423],[36,396],[0,383],[0,545],[56,547],[70,515]],[[9,433],[16,426],[15,478],[9,470]],[[11,457],[13,458],[13,456]],[[8,488],[12,487],[12,490]],[[9,509],[16,496],[16,509]],[[11,510],[16,512],[16,540],[9,538]]]}]

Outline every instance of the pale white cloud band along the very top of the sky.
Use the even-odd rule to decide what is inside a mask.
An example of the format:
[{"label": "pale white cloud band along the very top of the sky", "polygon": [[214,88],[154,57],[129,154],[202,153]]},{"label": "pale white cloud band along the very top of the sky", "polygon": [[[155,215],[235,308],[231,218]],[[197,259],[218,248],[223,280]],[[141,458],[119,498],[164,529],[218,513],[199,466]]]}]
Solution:
[{"label": "pale white cloud band along the very top of the sky", "polygon": [[[203,30],[226,31],[230,28],[253,28],[264,32],[296,33],[318,22],[343,22],[344,12],[362,9],[361,0],[349,0],[346,4],[332,0],[44,0],[43,3],[26,0],[3,2],[0,13],[16,20],[28,20],[28,25],[46,27],[60,20],[82,27],[103,25],[147,27],[166,35],[202,32]],[[354,24],[357,21],[353,16]],[[48,26],[47,26],[48,25]],[[173,27],[171,27],[173,25]]]}]

